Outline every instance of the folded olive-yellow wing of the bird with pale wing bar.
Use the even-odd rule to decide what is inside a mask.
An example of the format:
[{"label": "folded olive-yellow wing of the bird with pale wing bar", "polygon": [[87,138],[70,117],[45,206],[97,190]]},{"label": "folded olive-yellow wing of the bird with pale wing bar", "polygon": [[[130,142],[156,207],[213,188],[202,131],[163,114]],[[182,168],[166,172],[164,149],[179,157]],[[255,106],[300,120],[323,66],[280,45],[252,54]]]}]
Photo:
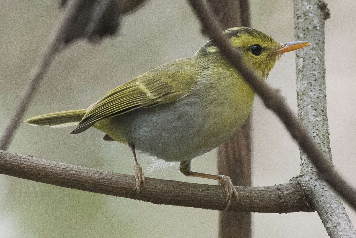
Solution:
[{"label": "folded olive-yellow wing of the bird with pale wing bar", "polygon": [[196,58],[181,59],[146,72],[113,88],[88,108],[71,133],[87,130],[97,121],[142,107],[169,103],[187,95],[199,77],[201,67]]}]

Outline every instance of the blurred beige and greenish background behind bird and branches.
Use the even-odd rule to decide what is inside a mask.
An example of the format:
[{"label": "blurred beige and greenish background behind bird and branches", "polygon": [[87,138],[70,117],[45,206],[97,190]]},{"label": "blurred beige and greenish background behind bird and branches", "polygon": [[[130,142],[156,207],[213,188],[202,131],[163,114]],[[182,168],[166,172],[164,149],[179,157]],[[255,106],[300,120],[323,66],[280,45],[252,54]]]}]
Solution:
[{"label": "blurred beige and greenish background behind bird and branches", "polygon": [[[328,0],[326,86],[334,165],[356,186],[356,1]],[[0,8],[0,132],[9,122],[28,75],[58,18],[58,1],[3,1]],[[292,0],[252,0],[252,26],[280,42],[294,40]],[[124,17],[119,37],[99,45],[79,42],[60,54],[42,81],[27,117],[86,108],[111,88],[204,44],[186,1],[151,0]],[[267,82],[279,88],[296,112],[294,53],[283,55]],[[101,140],[92,128],[69,135],[21,124],[9,151],[133,174],[129,148]],[[287,182],[299,174],[299,149],[282,123],[256,97],[252,117],[252,185]],[[147,156],[139,153],[142,165]],[[176,167],[177,168],[177,167]],[[176,168],[147,177],[210,183]],[[192,162],[195,171],[216,173],[216,151]],[[356,213],[345,204],[351,221]],[[0,237],[217,237],[217,211],[155,205],[56,187],[0,174]],[[252,215],[253,237],[328,237],[317,213]]]}]

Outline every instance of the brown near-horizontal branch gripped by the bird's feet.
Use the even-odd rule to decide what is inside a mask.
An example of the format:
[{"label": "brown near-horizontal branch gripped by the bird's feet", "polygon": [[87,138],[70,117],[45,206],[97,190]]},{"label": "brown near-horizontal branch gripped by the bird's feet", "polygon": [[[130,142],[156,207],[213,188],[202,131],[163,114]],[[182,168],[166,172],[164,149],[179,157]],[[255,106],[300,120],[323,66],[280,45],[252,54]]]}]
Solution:
[{"label": "brown near-horizontal branch gripped by the bird's feet", "polygon": [[[132,175],[104,172],[0,151],[0,173],[36,182],[134,199]],[[267,187],[236,187],[240,201],[229,209],[243,212],[313,212],[297,179]],[[222,186],[146,178],[138,199],[156,204],[223,210]]]}]

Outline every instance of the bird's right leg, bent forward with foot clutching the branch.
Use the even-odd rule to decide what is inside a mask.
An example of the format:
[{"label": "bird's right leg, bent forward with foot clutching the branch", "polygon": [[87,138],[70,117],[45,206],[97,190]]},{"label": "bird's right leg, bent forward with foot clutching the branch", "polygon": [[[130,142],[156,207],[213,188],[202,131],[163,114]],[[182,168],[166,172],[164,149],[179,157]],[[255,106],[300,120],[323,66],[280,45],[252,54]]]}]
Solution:
[{"label": "bird's right leg, bent forward with foot clutching the branch", "polygon": [[182,172],[185,176],[210,178],[210,179],[218,180],[220,182],[220,185],[224,186],[225,194],[226,194],[226,199],[224,202],[224,203],[226,203],[226,207],[223,212],[225,212],[227,210],[227,208],[229,208],[229,206],[231,204],[232,194],[235,194],[237,201],[239,201],[239,195],[237,194],[237,191],[236,191],[234,185],[232,184],[231,178],[229,176],[193,172],[190,170],[190,161],[180,162],[179,171]]}]

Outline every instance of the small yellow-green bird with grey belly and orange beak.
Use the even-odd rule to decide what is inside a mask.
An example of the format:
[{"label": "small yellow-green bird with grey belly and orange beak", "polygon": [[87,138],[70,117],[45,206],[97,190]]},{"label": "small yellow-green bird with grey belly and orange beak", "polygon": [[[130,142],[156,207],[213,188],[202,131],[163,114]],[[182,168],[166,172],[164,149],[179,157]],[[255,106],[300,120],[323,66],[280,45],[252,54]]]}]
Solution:
[{"label": "small yellow-green bird with grey belly and orange beak", "polygon": [[[241,51],[245,64],[261,78],[281,55],[310,45],[278,43],[248,27],[223,32]],[[132,152],[136,198],[145,175],[136,149],[166,162],[180,162],[185,176],[215,179],[224,186],[225,209],[238,193],[229,176],[191,170],[191,161],[229,140],[251,112],[255,92],[210,40],[189,58],[163,64],[113,88],[88,108],[28,118],[36,126],[77,126],[71,134],[94,127],[103,140],[127,144]]]}]

